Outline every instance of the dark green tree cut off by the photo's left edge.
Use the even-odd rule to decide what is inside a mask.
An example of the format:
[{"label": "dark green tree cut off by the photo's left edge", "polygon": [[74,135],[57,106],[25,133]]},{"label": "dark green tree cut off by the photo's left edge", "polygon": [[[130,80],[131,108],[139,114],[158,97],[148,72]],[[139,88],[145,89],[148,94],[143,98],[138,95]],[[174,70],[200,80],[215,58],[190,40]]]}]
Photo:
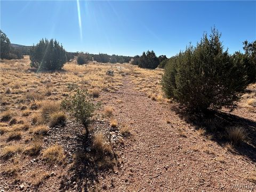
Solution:
[{"label": "dark green tree cut off by the photo's left edge", "polygon": [[22,59],[23,52],[18,47],[11,45],[10,39],[2,30],[1,33],[1,59]]}]

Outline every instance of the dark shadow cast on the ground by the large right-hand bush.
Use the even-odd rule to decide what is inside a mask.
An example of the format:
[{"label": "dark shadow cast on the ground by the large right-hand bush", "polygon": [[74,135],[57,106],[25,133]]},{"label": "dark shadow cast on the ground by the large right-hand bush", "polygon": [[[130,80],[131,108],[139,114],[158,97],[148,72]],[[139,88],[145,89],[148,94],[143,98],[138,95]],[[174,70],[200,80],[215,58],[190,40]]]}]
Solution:
[{"label": "dark shadow cast on the ground by the large right-hand bush", "polygon": [[195,129],[204,129],[206,134],[220,146],[225,146],[229,141],[226,137],[226,128],[230,126],[243,127],[246,135],[246,142],[234,146],[232,153],[243,155],[251,161],[256,162],[256,122],[250,119],[239,117],[221,111],[209,111],[207,114],[192,114],[185,108],[172,107],[173,111],[184,119]]}]

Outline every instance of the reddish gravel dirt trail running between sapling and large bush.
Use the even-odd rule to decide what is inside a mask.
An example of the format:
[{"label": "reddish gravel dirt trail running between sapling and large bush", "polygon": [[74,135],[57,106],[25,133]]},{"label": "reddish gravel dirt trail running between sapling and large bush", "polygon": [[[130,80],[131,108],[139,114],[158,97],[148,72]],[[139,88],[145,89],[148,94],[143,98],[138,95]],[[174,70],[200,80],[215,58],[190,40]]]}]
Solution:
[{"label": "reddish gravel dirt trail running between sapling and large bush", "polygon": [[[124,86],[108,97],[118,122],[131,127],[116,173],[102,180],[108,191],[247,191],[255,163],[199,136],[170,103],[160,103]],[[107,96],[107,95],[106,95]],[[121,99],[122,103],[116,100]],[[171,123],[166,123],[169,120]]]}]

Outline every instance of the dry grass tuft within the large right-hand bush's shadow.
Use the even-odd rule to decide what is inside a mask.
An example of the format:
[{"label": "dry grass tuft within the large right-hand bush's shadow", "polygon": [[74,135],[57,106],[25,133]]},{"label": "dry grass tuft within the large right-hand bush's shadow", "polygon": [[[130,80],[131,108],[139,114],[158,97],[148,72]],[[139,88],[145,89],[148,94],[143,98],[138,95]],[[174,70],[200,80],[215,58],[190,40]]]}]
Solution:
[{"label": "dry grass tuft within the large right-hand bush's shadow", "polygon": [[228,127],[227,138],[232,145],[239,145],[246,139],[245,130],[242,127]]}]

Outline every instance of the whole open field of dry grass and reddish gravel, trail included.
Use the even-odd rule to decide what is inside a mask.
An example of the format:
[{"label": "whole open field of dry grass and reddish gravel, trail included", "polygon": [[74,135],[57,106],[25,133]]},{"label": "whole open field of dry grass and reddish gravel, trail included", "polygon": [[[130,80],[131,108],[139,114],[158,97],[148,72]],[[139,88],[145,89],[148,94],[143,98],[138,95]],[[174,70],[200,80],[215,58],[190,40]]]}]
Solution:
[{"label": "whole open field of dry grass and reddish gravel, trail included", "polygon": [[[255,190],[256,84],[234,111],[198,120],[163,97],[162,73],[76,61],[36,73],[28,56],[2,60],[0,190]],[[101,103],[85,148],[83,126],[60,107],[77,88]],[[238,146],[230,127],[243,130]]]}]

